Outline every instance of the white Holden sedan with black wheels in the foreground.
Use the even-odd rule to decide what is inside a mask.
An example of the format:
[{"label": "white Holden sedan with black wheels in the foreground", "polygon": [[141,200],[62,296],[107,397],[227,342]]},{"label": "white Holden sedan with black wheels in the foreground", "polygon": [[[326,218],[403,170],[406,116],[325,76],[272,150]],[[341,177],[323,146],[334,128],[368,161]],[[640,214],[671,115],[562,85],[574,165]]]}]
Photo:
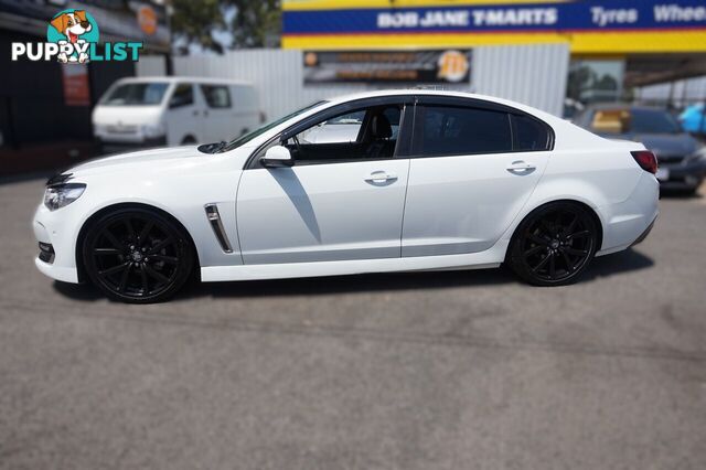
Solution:
[{"label": "white Holden sedan with black wheels in the foreground", "polygon": [[110,157],[53,177],[34,217],[35,263],[126,302],[168,299],[192,276],[506,264],[532,285],[566,285],[595,256],[646,236],[655,171],[641,143],[504,99],[365,93],[231,142]]}]

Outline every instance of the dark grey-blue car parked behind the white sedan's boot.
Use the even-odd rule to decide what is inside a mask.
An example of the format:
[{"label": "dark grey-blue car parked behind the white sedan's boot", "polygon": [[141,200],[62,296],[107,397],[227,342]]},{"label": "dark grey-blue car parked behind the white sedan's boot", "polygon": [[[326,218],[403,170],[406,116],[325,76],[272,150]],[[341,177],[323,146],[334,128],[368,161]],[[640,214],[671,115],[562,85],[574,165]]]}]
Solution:
[{"label": "dark grey-blue car parked behind the white sedan's boot", "polygon": [[584,111],[575,122],[599,136],[644,143],[657,157],[656,175],[665,189],[693,193],[704,181],[706,159],[702,145],[665,109],[598,105]]}]

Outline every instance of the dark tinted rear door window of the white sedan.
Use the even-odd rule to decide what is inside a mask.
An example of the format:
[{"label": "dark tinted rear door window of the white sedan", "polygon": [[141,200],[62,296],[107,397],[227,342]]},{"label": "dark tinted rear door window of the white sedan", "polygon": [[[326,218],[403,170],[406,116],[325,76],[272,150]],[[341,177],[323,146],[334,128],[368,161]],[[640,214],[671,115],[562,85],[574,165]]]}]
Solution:
[{"label": "dark tinted rear door window of the white sedan", "polygon": [[486,109],[422,106],[419,157],[500,153],[512,151],[510,116]]}]

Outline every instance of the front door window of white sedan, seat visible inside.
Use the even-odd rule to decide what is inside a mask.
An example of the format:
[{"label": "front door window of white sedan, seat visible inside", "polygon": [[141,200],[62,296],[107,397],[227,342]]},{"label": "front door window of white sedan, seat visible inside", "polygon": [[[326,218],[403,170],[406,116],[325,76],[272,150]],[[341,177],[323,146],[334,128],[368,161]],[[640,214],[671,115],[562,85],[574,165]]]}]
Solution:
[{"label": "front door window of white sedan, seat visible inside", "polygon": [[388,159],[395,154],[402,106],[347,110],[313,124],[284,145],[297,164]]}]

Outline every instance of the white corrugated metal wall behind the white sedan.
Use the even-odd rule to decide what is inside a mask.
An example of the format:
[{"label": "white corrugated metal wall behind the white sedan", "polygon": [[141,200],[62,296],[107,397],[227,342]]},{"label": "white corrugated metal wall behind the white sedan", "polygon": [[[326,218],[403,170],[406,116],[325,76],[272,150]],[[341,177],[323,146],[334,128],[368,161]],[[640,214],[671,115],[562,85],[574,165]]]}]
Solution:
[{"label": "white corrugated metal wall behind the white sedan", "polygon": [[[471,62],[472,85],[445,88],[472,89],[560,115],[568,62],[566,44],[478,47]],[[297,50],[243,50],[224,55],[174,57],[174,74],[248,81],[257,87],[260,107],[268,119],[314,100],[381,88],[377,85],[304,86],[302,52]]]}]

